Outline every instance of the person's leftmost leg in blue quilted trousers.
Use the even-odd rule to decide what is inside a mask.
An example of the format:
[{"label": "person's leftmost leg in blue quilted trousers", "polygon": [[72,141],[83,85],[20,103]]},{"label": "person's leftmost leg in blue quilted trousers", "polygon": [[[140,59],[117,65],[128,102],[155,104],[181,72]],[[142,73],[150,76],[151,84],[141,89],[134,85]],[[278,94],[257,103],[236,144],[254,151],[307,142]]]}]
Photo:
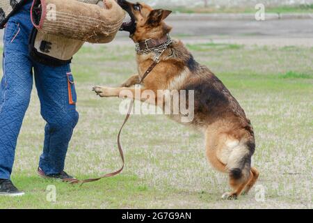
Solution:
[{"label": "person's leftmost leg in blue quilted trousers", "polygon": [[10,179],[17,137],[29,106],[33,76],[28,38],[31,23],[18,13],[6,24],[3,37],[3,77],[0,87],[0,179]]}]

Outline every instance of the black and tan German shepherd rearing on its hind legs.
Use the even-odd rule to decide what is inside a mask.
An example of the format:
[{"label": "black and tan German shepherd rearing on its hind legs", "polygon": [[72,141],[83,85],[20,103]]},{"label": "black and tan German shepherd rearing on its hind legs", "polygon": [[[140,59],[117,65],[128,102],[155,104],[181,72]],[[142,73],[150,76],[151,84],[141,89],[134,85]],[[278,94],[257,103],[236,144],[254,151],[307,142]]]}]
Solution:
[{"label": "black and tan German shepherd rearing on its hind legs", "polygon": [[[121,29],[128,31],[135,43],[160,40],[170,33],[172,27],[164,20],[171,11],[154,10],[145,3],[125,0],[118,0],[118,4],[131,17]],[[126,96],[124,90],[128,90],[133,93],[133,99],[145,101],[147,98],[136,98],[136,89],[131,86],[140,83],[155,56],[154,52],[137,54],[138,75],[130,77],[120,88],[95,86],[93,90],[101,97],[121,98]],[[248,193],[259,177],[259,171],[251,167],[255,152],[253,128],[239,102],[209,68],[197,63],[180,40],[172,40],[142,84],[141,92],[150,90],[156,95],[158,90],[194,91],[194,118],[189,125],[204,133],[211,165],[230,177],[232,192],[226,192],[222,198],[236,199]]]}]

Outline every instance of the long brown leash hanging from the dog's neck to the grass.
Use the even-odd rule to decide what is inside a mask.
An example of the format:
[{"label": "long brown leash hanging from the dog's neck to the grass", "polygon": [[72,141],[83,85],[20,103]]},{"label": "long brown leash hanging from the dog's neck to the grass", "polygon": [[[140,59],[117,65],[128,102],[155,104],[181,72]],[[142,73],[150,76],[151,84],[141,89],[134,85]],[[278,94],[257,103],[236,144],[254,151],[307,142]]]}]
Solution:
[{"label": "long brown leash hanging from the dog's neck to the grass", "polygon": [[[143,81],[145,80],[145,78],[147,77],[147,75],[149,75],[150,72],[152,72],[152,70],[155,68],[155,66],[157,66],[157,64],[160,62],[161,55],[163,54],[163,52],[166,51],[166,49],[167,49],[167,47],[165,49],[163,49],[159,54],[157,54],[157,56],[153,60],[152,65],[150,66],[150,68],[147,69],[147,71],[145,72],[145,74],[141,78],[141,82],[139,82],[139,84],[142,84]],[[129,105],[129,109],[127,112],[127,116],[125,117],[124,123],[122,124],[120,131],[118,132],[118,151],[120,152],[120,157],[122,159],[122,167],[118,171],[115,171],[111,174],[106,174],[104,176],[100,176],[99,178],[90,178],[90,179],[86,179],[86,180],[73,180],[72,182],[70,182],[70,184],[74,185],[74,184],[80,183],[81,185],[83,185],[84,183],[95,182],[95,181],[101,180],[103,178],[109,178],[112,176],[116,176],[122,172],[122,170],[125,167],[125,157],[124,157],[122,145],[120,144],[120,135],[121,135],[122,130],[124,129],[127,121],[129,120],[129,117],[131,116],[131,110],[133,109],[133,107],[134,107],[134,99],[131,100],[131,103]]]}]

